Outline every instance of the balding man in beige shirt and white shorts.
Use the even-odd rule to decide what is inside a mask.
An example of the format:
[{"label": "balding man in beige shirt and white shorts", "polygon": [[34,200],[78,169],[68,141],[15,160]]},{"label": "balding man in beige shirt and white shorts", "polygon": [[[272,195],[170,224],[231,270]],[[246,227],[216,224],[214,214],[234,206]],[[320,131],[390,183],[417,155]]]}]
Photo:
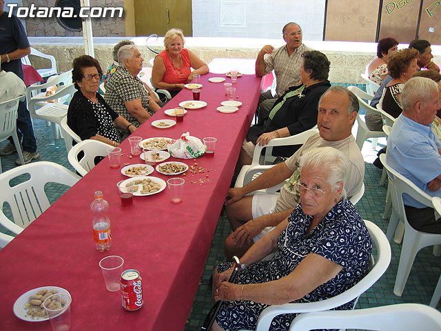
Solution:
[{"label": "balding man in beige shirt and white shorts", "polygon": [[[286,219],[299,201],[295,185],[298,181],[298,159],[308,150],[330,146],[349,158],[345,190],[351,197],[360,190],[365,177],[365,163],[351,134],[356,120],[358,100],[355,94],[342,86],[331,86],[318,102],[317,126],[320,131],[287,161],[275,165],[243,188],[231,188],[225,202],[227,217],[234,232],[225,241],[225,255],[242,256],[254,241],[258,241],[271,227]],[[289,179],[279,194],[254,194],[250,192],[271,188]]]}]

